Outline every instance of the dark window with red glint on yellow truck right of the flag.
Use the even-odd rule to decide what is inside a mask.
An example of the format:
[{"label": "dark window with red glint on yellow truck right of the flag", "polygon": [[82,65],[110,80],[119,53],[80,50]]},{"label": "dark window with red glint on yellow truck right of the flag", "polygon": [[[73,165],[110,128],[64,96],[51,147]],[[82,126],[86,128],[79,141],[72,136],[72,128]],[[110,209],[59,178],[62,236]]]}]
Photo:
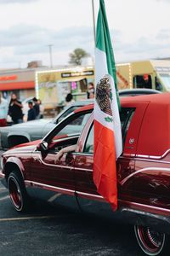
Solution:
[{"label": "dark window with red glint on yellow truck right of the flag", "polygon": [[134,88],[152,89],[151,76],[148,74],[134,76],[133,86]]}]

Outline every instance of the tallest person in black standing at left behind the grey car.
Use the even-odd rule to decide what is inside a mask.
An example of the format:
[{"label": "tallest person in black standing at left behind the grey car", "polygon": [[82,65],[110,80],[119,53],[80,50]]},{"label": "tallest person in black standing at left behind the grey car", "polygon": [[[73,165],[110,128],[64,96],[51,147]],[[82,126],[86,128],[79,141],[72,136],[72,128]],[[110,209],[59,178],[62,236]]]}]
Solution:
[{"label": "tallest person in black standing at left behind the grey car", "polygon": [[8,106],[8,114],[13,120],[14,125],[20,124],[23,122],[22,108],[23,106],[21,102],[17,100],[17,96],[15,94],[12,94],[11,100]]}]

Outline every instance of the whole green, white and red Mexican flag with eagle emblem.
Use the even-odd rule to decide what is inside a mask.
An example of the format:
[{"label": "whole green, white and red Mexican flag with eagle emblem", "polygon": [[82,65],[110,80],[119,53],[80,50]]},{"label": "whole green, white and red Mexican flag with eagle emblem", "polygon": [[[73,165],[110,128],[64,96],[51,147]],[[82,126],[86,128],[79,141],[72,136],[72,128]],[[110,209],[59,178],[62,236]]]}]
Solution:
[{"label": "whole green, white and red Mexican flag with eagle emblem", "polygon": [[95,51],[94,183],[113,210],[117,208],[116,159],[122,154],[119,104],[105,2],[99,0]]}]

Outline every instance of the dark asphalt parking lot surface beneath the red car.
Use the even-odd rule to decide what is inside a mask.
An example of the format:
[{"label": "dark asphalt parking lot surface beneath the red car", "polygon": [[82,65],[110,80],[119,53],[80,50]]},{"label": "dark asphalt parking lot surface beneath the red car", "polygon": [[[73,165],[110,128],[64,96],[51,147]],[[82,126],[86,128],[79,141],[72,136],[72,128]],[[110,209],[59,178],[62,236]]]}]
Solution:
[{"label": "dark asphalt parking lot surface beneath the red car", "polygon": [[15,212],[0,183],[0,255],[142,255],[133,228],[37,202]]}]

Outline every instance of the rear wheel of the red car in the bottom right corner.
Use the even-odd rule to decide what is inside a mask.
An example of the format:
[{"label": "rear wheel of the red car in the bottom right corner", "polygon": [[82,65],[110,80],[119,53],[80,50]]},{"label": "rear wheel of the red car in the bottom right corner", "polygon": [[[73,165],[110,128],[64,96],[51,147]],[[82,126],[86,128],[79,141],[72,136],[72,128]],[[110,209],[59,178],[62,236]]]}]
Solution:
[{"label": "rear wheel of the red car in the bottom right corner", "polygon": [[169,255],[169,252],[167,252],[169,239],[166,234],[139,225],[134,225],[134,233],[139,247],[145,255]]}]

